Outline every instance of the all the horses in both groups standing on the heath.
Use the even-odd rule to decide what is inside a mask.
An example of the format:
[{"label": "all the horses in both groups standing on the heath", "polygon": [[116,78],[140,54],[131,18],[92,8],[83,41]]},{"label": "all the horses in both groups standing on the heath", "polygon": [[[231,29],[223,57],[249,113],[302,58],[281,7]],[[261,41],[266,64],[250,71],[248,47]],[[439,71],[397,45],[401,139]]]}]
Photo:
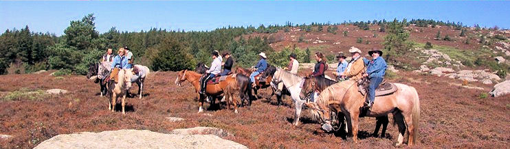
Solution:
[{"label": "all the horses in both groups standing on the heath", "polygon": [[[142,90],[146,75],[137,80],[131,81],[133,73],[131,70],[121,70],[119,79],[116,83],[112,81],[104,81],[110,74],[111,64],[101,62],[91,64],[87,78],[96,75],[96,83],[100,84],[100,95],[106,94],[110,98],[109,109],[115,110],[116,98],[122,96],[122,113],[124,113],[124,105],[126,92],[131,87],[131,83],[135,82],[139,86],[140,98],[142,98]],[[135,65],[135,68],[148,68],[146,66]],[[199,94],[200,79],[206,72],[208,67],[204,64],[197,64],[195,71],[181,70],[177,74],[175,84],[181,86],[184,81],[188,81],[195,87],[197,98],[199,99],[199,112],[203,111],[203,103],[209,98],[210,105],[218,104],[217,99],[223,98],[228,109],[234,109],[234,113],[238,113],[238,104],[243,107],[245,100],[247,105],[252,104],[252,100],[260,98],[257,91],[270,87],[274,91],[278,83],[284,84],[282,94],[277,95],[278,106],[282,104],[282,96],[290,96],[295,108],[293,125],[298,126],[300,114],[304,107],[310,109],[311,115],[318,120],[324,131],[338,131],[346,128],[346,133],[353,136],[353,140],[357,142],[358,118],[375,117],[377,118],[376,128],[373,135],[377,136],[380,126],[383,126],[382,135],[384,137],[386,126],[388,126],[388,114],[393,114],[394,123],[398,125],[399,137],[396,146],[403,144],[403,135],[408,132],[408,146],[416,143],[418,137],[418,126],[420,118],[419,97],[414,87],[401,83],[394,83],[397,91],[384,96],[377,96],[375,103],[370,109],[364,108],[364,94],[358,91],[357,81],[341,81],[336,82],[324,77],[300,77],[281,68],[268,66],[267,70],[256,77],[256,87],[252,87],[250,82],[251,70],[236,67],[234,73],[223,77],[214,78],[219,81],[208,83],[206,87],[206,95]],[[362,83],[368,83],[368,79],[362,79]],[[318,91],[320,94],[315,96],[315,100],[310,101],[309,97]],[[253,93],[252,93],[253,92]],[[239,94],[239,100],[236,100],[235,94]],[[336,121],[337,124],[333,124]],[[346,121],[346,122],[344,122]],[[333,128],[333,125],[339,125]]]}]

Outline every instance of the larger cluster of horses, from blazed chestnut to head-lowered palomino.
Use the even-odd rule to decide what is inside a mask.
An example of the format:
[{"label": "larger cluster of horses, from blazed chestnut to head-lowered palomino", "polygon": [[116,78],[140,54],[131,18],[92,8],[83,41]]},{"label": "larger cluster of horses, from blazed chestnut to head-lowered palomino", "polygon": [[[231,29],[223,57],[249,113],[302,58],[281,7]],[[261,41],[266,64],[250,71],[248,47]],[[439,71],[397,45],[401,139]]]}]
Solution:
[{"label": "larger cluster of horses, from blazed chestnut to head-lowered palomino", "polygon": [[[181,85],[184,81],[189,81],[195,86],[195,91],[199,91],[199,79],[202,76],[200,72],[205,72],[206,66],[199,64],[197,72],[191,70],[181,70],[177,75],[175,83]],[[234,74],[228,75],[224,81],[217,84],[208,85],[206,93],[213,98],[220,98],[221,94],[227,99],[229,105],[234,105],[234,111],[237,113],[236,100],[232,99],[234,92],[239,92],[241,98],[241,106],[244,100],[248,99],[251,104],[253,98],[252,90],[256,91],[260,88],[271,87],[276,90],[278,83],[283,83],[285,90],[282,95],[291,97],[294,103],[295,113],[293,124],[298,126],[300,113],[303,107],[310,109],[313,118],[322,123],[322,128],[325,131],[332,131],[331,125],[334,118],[337,119],[338,126],[335,131],[340,128],[348,128],[348,132],[353,136],[353,140],[357,142],[358,131],[358,118],[362,117],[375,117],[377,119],[376,128],[373,135],[377,136],[380,126],[383,126],[382,135],[384,137],[386,126],[388,126],[388,114],[393,114],[394,123],[399,127],[399,137],[396,146],[403,144],[403,135],[406,130],[408,132],[408,145],[412,146],[416,143],[418,137],[418,126],[420,118],[419,96],[414,87],[404,85],[401,83],[393,83],[397,87],[395,92],[385,94],[384,96],[377,96],[375,105],[370,109],[364,107],[364,99],[366,96],[359,92],[358,83],[368,83],[368,79],[360,81],[341,81],[336,82],[324,77],[300,77],[297,74],[292,74],[281,68],[269,66],[262,75],[267,81],[261,82],[256,79],[256,87],[250,87],[250,80],[247,76],[251,73],[250,70],[237,67]],[[315,96],[312,102],[309,96],[317,90],[320,92]],[[274,93],[274,92],[273,92]],[[271,94],[271,96],[274,94]],[[269,98],[271,97],[269,96]],[[206,96],[198,94],[199,98],[199,112],[203,111],[202,105]],[[278,105],[281,104],[282,96],[277,96]],[[214,104],[214,100],[212,100]],[[249,105],[250,105],[249,104]],[[346,124],[344,123],[346,121]]]}]

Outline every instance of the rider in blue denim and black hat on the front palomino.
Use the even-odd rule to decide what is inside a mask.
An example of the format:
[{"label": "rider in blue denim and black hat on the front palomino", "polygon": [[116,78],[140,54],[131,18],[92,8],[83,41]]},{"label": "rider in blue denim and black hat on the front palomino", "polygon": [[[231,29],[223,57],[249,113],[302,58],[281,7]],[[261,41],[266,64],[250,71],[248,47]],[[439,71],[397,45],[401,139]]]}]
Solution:
[{"label": "rider in blue denim and black hat on the front palomino", "polygon": [[372,107],[375,100],[375,89],[382,82],[388,66],[386,65],[386,61],[381,57],[382,51],[379,49],[368,51],[368,55],[372,56],[372,60],[363,58],[366,64],[366,73],[363,74],[363,77],[368,77],[368,79],[370,79],[370,84],[368,85],[368,104],[366,107]]}]

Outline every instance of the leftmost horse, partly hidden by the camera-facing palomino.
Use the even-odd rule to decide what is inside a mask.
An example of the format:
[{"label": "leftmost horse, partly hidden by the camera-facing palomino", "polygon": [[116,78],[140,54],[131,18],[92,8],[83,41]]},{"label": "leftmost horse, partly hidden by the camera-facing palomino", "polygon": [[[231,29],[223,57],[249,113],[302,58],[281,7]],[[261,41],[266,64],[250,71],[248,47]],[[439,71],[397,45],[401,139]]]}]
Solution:
[{"label": "leftmost horse, partly hidden by the camera-facing palomino", "polygon": [[99,83],[100,86],[100,96],[107,94],[107,84],[104,82],[104,79],[109,77],[111,70],[111,62],[101,62],[99,64],[93,63],[89,65],[89,72],[87,72],[87,79],[90,77],[97,75],[95,83]]}]

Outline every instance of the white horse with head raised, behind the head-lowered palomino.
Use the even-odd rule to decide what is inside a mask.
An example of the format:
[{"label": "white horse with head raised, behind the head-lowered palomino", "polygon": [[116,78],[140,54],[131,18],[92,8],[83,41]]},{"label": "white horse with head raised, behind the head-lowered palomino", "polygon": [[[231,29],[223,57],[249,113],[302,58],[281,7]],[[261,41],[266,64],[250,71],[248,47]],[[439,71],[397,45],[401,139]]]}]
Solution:
[{"label": "white horse with head raised, behind the head-lowered palomino", "polygon": [[302,100],[299,96],[302,89],[302,84],[304,83],[304,78],[299,77],[296,74],[292,74],[291,72],[287,72],[282,70],[281,68],[276,68],[276,72],[273,74],[273,82],[278,84],[280,82],[287,87],[291,94],[291,98],[296,105],[296,112],[294,113],[294,122],[295,126],[299,124],[299,118],[301,115],[302,105],[307,102],[306,100]]}]

